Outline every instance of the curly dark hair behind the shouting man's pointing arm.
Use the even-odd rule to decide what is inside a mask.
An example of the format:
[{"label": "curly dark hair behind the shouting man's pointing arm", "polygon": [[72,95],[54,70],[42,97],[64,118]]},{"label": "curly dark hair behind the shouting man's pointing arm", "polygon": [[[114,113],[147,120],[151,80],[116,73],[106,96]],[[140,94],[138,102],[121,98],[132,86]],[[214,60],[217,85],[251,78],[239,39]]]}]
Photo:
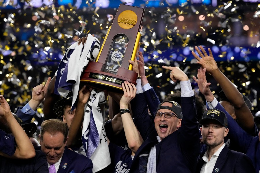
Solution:
[{"label": "curly dark hair behind the shouting man's pointing arm", "polygon": [[[197,115],[198,115],[198,121],[202,119],[203,113],[206,111],[206,105],[205,101],[198,95],[197,93],[194,93],[195,100],[196,100],[196,108],[197,108]],[[181,91],[177,90],[173,94],[168,94],[164,101],[175,101],[181,105]]]}]

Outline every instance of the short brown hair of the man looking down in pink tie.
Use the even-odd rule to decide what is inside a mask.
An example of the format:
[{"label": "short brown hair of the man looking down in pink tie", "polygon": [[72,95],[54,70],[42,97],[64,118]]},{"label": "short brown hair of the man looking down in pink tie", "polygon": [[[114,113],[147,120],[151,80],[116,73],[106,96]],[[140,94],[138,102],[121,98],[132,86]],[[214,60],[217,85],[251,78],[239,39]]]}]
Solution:
[{"label": "short brown hair of the man looking down in pink tie", "polygon": [[62,133],[64,135],[64,143],[68,137],[68,127],[66,123],[59,119],[49,119],[42,122],[40,131],[41,141],[43,141],[43,135],[45,132],[48,132],[51,135]]}]

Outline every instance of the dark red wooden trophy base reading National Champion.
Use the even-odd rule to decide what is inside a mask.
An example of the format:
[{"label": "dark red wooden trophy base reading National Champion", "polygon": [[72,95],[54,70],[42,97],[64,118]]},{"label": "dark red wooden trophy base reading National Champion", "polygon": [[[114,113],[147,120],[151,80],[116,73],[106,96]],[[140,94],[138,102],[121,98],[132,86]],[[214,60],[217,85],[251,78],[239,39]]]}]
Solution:
[{"label": "dark red wooden trophy base reading National Champion", "polygon": [[86,69],[81,74],[80,82],[88,82],[93,88],[99,90],[108,90],[114,93],[122,93],[122,83],[128,81],[136,85],[138,74],[132,70],[125,68],[118,68],[115,74],[102,72],[103,63],[91,61],[88,63]]}]

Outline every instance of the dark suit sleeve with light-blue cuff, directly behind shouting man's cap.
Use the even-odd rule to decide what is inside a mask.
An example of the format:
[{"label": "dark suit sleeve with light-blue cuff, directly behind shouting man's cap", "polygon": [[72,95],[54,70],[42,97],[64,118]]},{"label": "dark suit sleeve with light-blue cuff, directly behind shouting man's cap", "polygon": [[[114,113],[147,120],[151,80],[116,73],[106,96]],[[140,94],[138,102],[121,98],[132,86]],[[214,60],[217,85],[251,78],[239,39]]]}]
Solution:
[{"label": "dark suit sleeve with light-blue cuff, directly behind shouting man's cap", "polygon": [[148,89],[147,91],[144,91],[144,97],[146,99],[150,113],[154,119],[154,112],[156,112],[156,109],[157,109],[158,105],[160,104],[159,98],[157,97],[153,88]]}]

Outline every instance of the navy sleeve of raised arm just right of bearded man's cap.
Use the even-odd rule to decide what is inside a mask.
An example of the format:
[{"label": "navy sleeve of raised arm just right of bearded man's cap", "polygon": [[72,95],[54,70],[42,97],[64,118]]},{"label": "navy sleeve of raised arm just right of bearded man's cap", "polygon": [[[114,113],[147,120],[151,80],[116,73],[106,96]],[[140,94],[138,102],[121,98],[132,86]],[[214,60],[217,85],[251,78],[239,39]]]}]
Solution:
[{"label": "navy sleeve of raised arm just right of bearded man's cap", "polygon": [[223,111],[226,114],[229,129],[229,133],[227,136],[241,149],[243,153],[246,153],[253,137],[246,133],[246,131],[244,131],[237,124],[237,122],[235,122],[235,120],[229,115],[228,112],[226,112],[226,110],[220,103],[218,103],[215,108]]}]

